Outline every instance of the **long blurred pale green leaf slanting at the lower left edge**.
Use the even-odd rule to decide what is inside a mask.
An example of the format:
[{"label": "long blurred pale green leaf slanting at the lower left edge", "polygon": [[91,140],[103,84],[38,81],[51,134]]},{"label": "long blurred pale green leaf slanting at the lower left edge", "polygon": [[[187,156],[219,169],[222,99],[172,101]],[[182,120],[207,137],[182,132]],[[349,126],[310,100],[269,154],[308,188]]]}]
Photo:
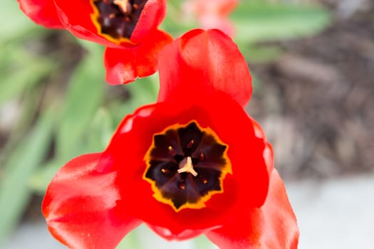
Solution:
[{"label": "long blurred pale green leaf slanting at the lower left edge", "polygon": [[31,198],[28,178],[46,157],[51,142],[53,112],[48,110],[19,144],[0,175],[0,245],[18,223]]}]

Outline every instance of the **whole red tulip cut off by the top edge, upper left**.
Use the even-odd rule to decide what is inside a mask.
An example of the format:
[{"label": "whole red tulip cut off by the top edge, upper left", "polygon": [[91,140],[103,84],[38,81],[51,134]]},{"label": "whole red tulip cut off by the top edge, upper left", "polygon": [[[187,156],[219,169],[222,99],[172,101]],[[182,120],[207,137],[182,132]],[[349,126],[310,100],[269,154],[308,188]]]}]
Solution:
[{"label": "whole red tulip cut off by the top edge, upper left", "polygon": [[157,70],[157,56],[172,37],[157,29],[166,0],[17,0],[21,10],[47,28],[107,46],[106,80],[130,83]]}]

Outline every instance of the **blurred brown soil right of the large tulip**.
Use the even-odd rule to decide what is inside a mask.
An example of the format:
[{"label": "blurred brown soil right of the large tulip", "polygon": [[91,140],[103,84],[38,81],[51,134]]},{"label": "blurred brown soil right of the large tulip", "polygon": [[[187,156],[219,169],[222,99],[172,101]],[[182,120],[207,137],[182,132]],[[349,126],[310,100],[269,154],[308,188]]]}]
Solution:
[{"label": "blurred brown soil right of the large tulip", "polygon": [[286,177],[374,170],[374,3],[353,2],[324,1],[330,28],[282,42],[274,63],[250,65],[261,85],[248,110]]}]

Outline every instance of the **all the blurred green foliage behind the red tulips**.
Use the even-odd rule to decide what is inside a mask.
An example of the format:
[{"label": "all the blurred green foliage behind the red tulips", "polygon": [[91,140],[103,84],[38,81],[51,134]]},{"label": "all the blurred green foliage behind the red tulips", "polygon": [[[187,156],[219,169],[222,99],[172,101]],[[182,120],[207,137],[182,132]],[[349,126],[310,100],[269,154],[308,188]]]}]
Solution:
[{"label": "all the blurred green foliage behind the red tulips", "polygon": [[[198,23],[180,18],[181,6],[180,0],[170,0],[162,23],[162,28],[175,37],[198,27]],[[234,39],[251,62],[271,61],[281,54],[279,46],[264,43],[311,36],[330,22],[328,11],[321,6],[285,1],[241,1],[230,17],[236,28]],[[158,77],[155,74],[135,84],[109,87],[104,81],[103,47],[74,40],[64,31],[36,26],[16,1],[1,3],[0,23],[0,117],[7,115],[6,105],[16,106],[17,114],[6,132],[1,134],[0,130],[5,137],[5,143],[0,144],[1,245],[19,222],[32,194],[42,195],[66,161],[102,151],[125,115],[155,102]],[[66,67],[65,57],[58,60],[54,53],[38,53],[38,46],[53,35],[65,36],[85,51],[76,65],[68,63],[72,70]],[[63,83],[55,76],[66,74]],[[115,95],[110,88],[123,94]],[[52,97],[48,91],[55,91]],[[199,248],[208,248],[208,244],[204,238],[196,240]],[[133,235],[119,248],[125,245],[137,245]]]}]

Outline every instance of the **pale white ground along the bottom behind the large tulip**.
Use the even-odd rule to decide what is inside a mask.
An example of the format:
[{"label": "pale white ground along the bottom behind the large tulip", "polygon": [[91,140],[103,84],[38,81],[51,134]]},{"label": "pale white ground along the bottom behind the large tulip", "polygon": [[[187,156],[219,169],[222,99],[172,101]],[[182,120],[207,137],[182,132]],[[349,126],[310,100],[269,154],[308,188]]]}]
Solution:
[{"label": "pale white ground along the bottom behind the large tulip", "polygon": [[[289,182],[286,186],[301,230],[299,249],[374,248],[374,174]],[[140,243],[145,249],[194,248],[192,241],[167,243],[145,227],[137,234],[142,234]],[[24,248],[64,247],[51,238],[41,222],[23,224],[4,247]]]}]

